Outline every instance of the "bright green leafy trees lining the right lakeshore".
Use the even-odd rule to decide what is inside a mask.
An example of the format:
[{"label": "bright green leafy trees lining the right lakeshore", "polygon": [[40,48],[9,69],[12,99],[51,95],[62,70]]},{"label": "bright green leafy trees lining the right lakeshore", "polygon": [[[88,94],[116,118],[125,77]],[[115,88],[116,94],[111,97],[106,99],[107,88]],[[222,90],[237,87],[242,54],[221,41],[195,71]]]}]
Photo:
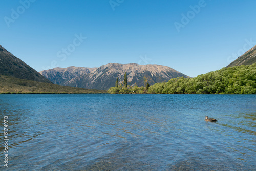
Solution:
[{"label": "bright green leafy trees lining the right lakeshore", "polygon": [[108,93],[152,94],[256,94],[256,63],[222,68],[195,78],[173,78],[147,87],[112,87]]}]

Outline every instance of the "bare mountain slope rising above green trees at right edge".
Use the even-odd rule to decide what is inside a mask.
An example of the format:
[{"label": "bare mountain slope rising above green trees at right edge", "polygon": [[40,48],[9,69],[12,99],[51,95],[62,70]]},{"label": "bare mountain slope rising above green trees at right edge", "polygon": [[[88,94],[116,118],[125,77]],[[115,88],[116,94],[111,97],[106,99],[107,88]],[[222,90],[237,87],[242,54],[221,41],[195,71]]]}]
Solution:
[{"label": "bare mountain slope rising above green trees at right edge", "polygon": [[231,62],[227,67],[251,65],[256,62],[256,46],[245,52],[242,56]]}]

